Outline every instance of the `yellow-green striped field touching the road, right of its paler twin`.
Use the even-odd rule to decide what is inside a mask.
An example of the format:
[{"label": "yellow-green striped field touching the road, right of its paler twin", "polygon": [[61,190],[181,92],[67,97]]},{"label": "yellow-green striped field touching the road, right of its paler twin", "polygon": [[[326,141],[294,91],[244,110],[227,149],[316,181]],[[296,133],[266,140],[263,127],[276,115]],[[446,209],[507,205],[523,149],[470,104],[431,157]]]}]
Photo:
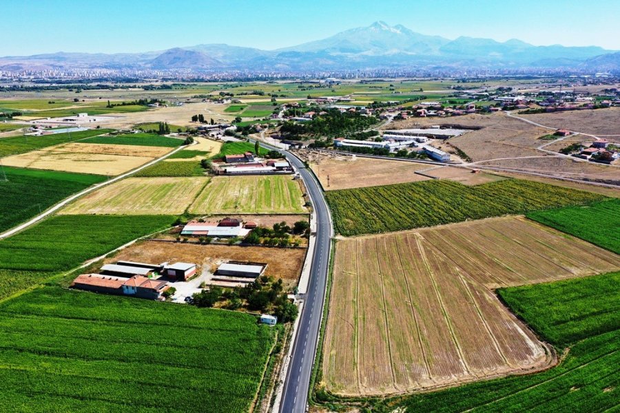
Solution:
[{"label": "yellow-green striped field touching the road, right of its paler twin", "polygon": [[216,176],[189,213],[305,213],[302,191],[291,176]]}]

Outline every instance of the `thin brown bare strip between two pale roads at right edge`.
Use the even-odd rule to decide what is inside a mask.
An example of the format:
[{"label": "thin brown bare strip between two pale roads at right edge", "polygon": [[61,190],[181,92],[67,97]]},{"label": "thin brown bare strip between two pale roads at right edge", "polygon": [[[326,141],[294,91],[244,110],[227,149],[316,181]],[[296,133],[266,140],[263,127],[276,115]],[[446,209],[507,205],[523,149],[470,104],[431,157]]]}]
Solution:
[{"label": "thin brown bare strip between two pale roads at right edge", "polygon": [[558,178],[620,183],[620,169],[618,167],[598,165],[594,162],[581,162],[570,158],[546,156],[544,158],[504,159],[480,162],[477,165],[548,173],[550,176]]}]

